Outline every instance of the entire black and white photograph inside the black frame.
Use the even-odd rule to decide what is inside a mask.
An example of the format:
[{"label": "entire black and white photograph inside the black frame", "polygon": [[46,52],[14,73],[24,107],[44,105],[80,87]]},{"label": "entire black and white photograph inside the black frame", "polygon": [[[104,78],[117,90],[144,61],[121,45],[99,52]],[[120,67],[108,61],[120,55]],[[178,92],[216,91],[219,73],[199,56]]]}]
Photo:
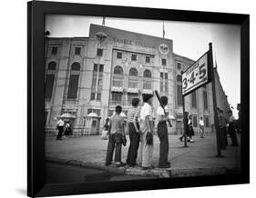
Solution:
[{"label": "entire black and white photograph inside the black frame", "polygon": [[45,17],[46,183],[241,173],[241,27]]}]

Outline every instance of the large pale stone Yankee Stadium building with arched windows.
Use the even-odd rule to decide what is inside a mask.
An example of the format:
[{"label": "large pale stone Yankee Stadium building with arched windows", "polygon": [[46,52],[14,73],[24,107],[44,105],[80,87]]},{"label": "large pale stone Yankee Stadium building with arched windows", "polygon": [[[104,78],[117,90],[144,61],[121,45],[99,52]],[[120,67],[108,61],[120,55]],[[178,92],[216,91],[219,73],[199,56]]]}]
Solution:
[{"label": "large pale stone Yankee Stadium building with arched windows", "polygon": [[[181,71],[194,60],[175,54],[172,40],[90,25],[88,37],[46,37],[45,54],[46,132],[55,131],[62,115],[74,134],[99,134],[117,104],[126,115],[132,98],[154,90],[169,98],[169,133],[182,131]],[[227,112],[230,106],[217,68],[215,75],[217,104]],[[154,97],[154,114],[158,106]],[[203,117],[205,130],[212,132],[211,84],[186,96],[185,107],[195,131]]]}]

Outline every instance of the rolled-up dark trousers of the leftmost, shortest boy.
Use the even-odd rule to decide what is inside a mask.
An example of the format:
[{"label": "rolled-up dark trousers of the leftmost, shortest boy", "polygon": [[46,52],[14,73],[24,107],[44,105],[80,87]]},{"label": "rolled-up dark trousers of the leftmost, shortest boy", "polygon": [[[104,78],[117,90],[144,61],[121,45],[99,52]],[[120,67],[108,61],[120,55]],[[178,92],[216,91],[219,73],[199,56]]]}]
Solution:
[{"label": "rolled-up dark trousers of the leftmost, shortest boy", "polygon": [[115,147],[115,162],[118,163],[121,162],[122,134],[109,134],[106,164],[110,164],[112,162]]}]

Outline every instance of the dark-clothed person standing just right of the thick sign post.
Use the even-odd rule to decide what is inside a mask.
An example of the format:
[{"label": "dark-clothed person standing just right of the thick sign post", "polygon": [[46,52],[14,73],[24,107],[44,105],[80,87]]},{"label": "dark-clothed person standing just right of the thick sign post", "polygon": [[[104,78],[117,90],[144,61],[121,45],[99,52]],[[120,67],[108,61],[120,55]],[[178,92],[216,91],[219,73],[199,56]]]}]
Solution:
[{"label": "dark-clothed person standing just right of the thick sign post", "polygon": [[226,132],[226,125],[227,120],[223,114],[223,111],[218,109],[218,120],[219,120],[219,132],[220,132],[220,149],[226,149],[226,139],[227,139],[227,132]]}]

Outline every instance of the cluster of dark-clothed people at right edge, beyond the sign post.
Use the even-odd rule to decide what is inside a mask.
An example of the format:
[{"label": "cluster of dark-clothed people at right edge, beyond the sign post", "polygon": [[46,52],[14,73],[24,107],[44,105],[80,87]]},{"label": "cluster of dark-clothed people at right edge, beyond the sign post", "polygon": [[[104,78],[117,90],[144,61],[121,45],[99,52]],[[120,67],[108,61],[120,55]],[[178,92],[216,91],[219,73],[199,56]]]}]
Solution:
[{"label": "cluster of dark-clothed people at right edge, beyond the sign post", "polygon": [[231,146],[238,146],[237,132],[240,133],[241,122],[241,104],[238,104],[239,119],[236,120],[231,110],[228,111],[228,117],[224,115],[223,110],[217,109],[220,133],[220,149],[225,150],[228,144],[228,134],[230,134]]}]

